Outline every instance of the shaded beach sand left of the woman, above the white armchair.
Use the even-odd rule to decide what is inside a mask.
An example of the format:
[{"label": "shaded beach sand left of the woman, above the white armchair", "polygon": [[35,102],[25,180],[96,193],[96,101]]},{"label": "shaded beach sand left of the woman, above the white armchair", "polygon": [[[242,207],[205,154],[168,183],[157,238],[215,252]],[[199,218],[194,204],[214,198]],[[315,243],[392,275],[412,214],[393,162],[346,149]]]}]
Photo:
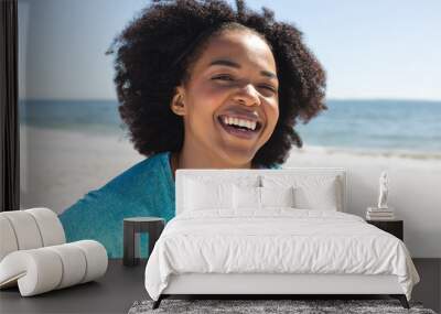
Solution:
[{"label": "shaded beach sand left of the woman, above the white armchair", "polygon": [[62,213],[143,159],[122,136],[21,126],[21,207]]}]

